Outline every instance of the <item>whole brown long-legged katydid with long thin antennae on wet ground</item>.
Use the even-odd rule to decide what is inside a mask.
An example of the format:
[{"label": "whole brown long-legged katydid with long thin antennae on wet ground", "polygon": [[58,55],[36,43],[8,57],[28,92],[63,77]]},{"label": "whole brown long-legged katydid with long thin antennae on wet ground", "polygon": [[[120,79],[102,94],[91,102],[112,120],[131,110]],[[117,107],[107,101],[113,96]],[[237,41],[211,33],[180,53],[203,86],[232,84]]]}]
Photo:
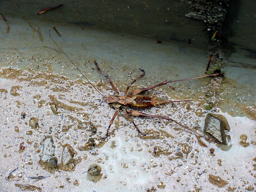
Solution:
[{"label": "whole brown long-legged katydid with long thin antennae on wet ground", "polygon": [[[50,34],[50,30],[49,30],[49,35],[51,37],[51,34]],[[52,37],[51,37],[52,39]],[[52,41],[56,44],[56,42],[52,39]],[[60,49],[59,45],[56,44],[57,47]],[[69,57],[66,55],[65,52],[63,52],[61,49],[60,51],[69,59]],[[137,77],[136,79],[134,79],[126,88],[125,92],[124,92],[124,95],[119,95],[119,92],[116,88],[116,86],[113,84],[112,80],[106,76],[99,68],[98,64],[96,61],[94,61],[98,71],[101,73],[101,75],[103,75],[107,80],[108,82],[111,84],[111,87],[113,88],[114,92],[116,95],[109,95],[109,96],[104,96],[85,76],[84,74],[80,71],[79,68],[77,68],[77,66],[74,64],[74,62],[72,60],[70,60],[70,62],[76,67],[76,69],[82,74],[82,76],[88,81],[89,84],[92,85],[92,87],[100,93],[100,95],[103,96],[104,100],[102,102],[106,102],[108,104],[110,104],[110,106],[112,108],[115,109],[115,113],[112,117],[112,119],[110,120],[109,122],[109,125],[108,125],[108,128],[107,128],[107,132],[106,132],[106,135],[105,137],[102,137],[100,135],[97,135],[97,133],[95,131],[92,130],[92,132],[97,135],[98,137],[102,138],[102,139],[106,139],[112,132],[114,132],[116,129],[114,129],[112,132],[109,133],[109,130],[110,130],[110,127],[111,125],[113,124],[114,122],[114,119],[116,118],[118,112],[119,112],[119,109],[121,109],[123,112],[124,112],[124,115],[126,117],[128,117],[129,121],[132,122],[132,124],[134,125],[134,127],[136,128],[136,130],[139,132],[139,134],[142,134],[142,135],[145,135],[143,132],[141,132],[138,128],[138,126],[133,122],[132,120],[132,117],[131,116],[143,116],[143,117],[153,117],[153,118],[160,118],[160,119],[166,119],[166,120],[170,120],[176,124],[178,124],[180,127],[183,127],[185,129],[187,129],[188,131],[190,132],[193,132],[194,134],[196,134],[199,138],[200,137],[203,137],[207,140],[212,140],[214,142],[217,142],[217,143],[220,143],[218,140],[216,139],[212,139],[212,138],[208,138],[192,129],[190,129],[189,127],[185,126],[185,125],[182,125],[181,123],[177,122],[176,120],[173,120],[171,119],[170,117],[168,116],[156,116],[156,115],[150,115],[150,114],[146,114],[146,113],[142,113],[140,111],[138,111],[138,109],[144,109],[144,108],[150,108],[150,107],[156,107],[157,105],[160,105],[160,104],[164,104],[164,103],[172,103],[172,102],[182,102],[182,101],[191,101],[191,100],[179,100],[179,101],[159,101],[157,100],[156,97],[148,97],[148,96],[145,96],[145,95],[141,95],[141,93],[143,92],[146,92],[150,89],[153,89],[153,88],[156,88],[156,87],[159,87],[161,85],[165,85],[167,83],[172,83],[172,82],[178,82],[178,81],[186,81],[186,80],[192,80],[192,79],[198,79],[198,78],[203,78],[203,77],[213,77],[213,76],[220,76],[221,73],[214,73],[214,74],[210,74],[210,75],[204,75],[204,76],[199,76],[199,77],[193,77],[193,78],[188,78],[188,79],[180,79],[180,80],[173,80],[173,81],[164,81],[162,83],[159,83],[159,84],[156,84],[154,86],[150,86],[150,87],[146,87],[146,88],[141,88],[141,89],[137,89],[137,90],[134,90],[132,91],[130,94],[127,94],[129,88],[131,87],[131,85],[133,83],[135,83],[137,80],[139,80],[142,76],[144,76],[145,74],[145,71],[143,69],[140,69],[142,71],[142,74]],[[101,103],[102,103],[101,102]],[[101,104],[100,103],[100,104]],[[99,104],[99,105],[100,105]],[[97,107],[99,106],[97,105]],[[96,108],[97,108],[96,107]],[[96,109],[95,108],[95,109]],[[94,110],[95,110],[94,109]],[[93,110],[93,111],[94,111]],[[91,116],[92,118],[92,116]],[[91,126],[91,129],[92,129],[92,125],[91,125],[91,118],[90,118],[90,126]],[[120,128],[119,128],[120,129]]]}]

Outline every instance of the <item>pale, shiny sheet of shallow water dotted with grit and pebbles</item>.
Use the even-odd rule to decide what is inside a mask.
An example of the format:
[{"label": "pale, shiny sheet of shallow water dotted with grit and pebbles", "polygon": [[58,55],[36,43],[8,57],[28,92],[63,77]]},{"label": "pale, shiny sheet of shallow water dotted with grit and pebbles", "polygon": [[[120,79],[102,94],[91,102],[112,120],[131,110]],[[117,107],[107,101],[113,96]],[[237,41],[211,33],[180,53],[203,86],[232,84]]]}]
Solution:
[{"label": "pale, shiny sheet of shallow water dotted with grit and pebbles", "polygon": [[[60,188],[63,191],[109,191],[113,188],[116,191],[147,191],[152,188],[162,191],[200,188],[222,191],[219,188],[221,185],[227,190],[253,186],[256,141],[251,133],[256,125],[254,120],[232,117],[219,108],[213,108],[227,118],[231,127],[228,132],[231,138],[228,146],[231,148],[228,151],[205,140],[208,148],[201,147],[194,134],[168,121],[135,117],[134,122],[140,130],[151,130],[149,136],[143,139],[138,137],[138,132],[123,115],[116,118],[112,127],[128,126],[116,130],[105,144],[95,140],[94,145],[86,145],[88,138],[92,137],[89,117],[102,99],[90,85],[73,82],[55,73],[3,68],[1,74],[4,77],[1,78],[3,161],[0,178],[3,191],[13,190],[15,183],[51,191],[59,191]],[[108,89],[108,84],[96,86],[102,92],[109,93],[104,91]],[[202,89],[207,89],[207,86]],[[194,94],[200,93],[195,91]],[[160,91],[158,96],[169,99],[165,92]],[[203,109],[204,101],[205,98],[201,97],[199,101],[190,101],[189,105],[179,103],[144,111],[168,115],[184,125],[199,126],[202,130],[208,112]],[[103,135],[112,114],[113,110],[104,104],[92,116],[92,123]],[[31,119],[35,118],[38,125],[31,123]],[[239,144],[242,134],[247,135],[247,147]],[[74,150],[68,167],[60,164],[54,171],[45,169],[40,163],[41,156],[47,154],[43,140],[49,136],[53,140],[47,145],[50,148],[49,158],[53,150],[52,156],[61,162],[65,144]],[[213,153],[210,148],[214,149]],[[92,164],[99,164],[102,168],[102,178],[96,183],[87,180],[87,173],[84,173]],[[6,180],[8,173],[16,167],[18,170],[12,178]],[[32,176],[47,178],[26,178]],[[214,180],[211,178],[215,176],[224,181],[212,184]]]}]

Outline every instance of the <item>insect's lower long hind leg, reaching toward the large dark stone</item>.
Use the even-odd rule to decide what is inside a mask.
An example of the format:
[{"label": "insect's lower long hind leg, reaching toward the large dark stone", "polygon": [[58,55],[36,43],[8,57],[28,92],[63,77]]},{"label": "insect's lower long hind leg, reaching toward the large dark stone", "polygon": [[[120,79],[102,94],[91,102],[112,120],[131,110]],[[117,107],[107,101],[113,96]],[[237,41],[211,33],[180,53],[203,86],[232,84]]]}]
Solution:
[{"label": "insect's lower long hind leg, reaching toward the large dark stone", "polygon": [[185,126],[185,125],[183,125],[183,124],[180,124],[179,122],[177,122],[177,121],[175,121],[175,120],[169,118],[168,116],[150,115],[150,114],[142,113],[142,112],[140,112],[140,111],[135,111],[135,110],[129,110],[128,113],[130,113],[132,116],[154,117],[154,118],[160,118],[160,119],[170,120],[170,121],[172,121],[172,122],[174,122],[174,123],[180,125],[181,127],[185,128],[185,129],[187,129],[187,130],[189,130],[190,132],[193,132],[193,133],[195,133],[196,135],[199,135],[200,137],[203,137],[203,138],[205,138],[205,139],[207,139],[207,140],[215,141],[216,143],[220,143],[220,141],[218,141],[218,140],[214,140],[214,139],[205,137],[205,136],[199,134],[198,132],[193,131],[192,129],[188,128],[187,126]]}]

